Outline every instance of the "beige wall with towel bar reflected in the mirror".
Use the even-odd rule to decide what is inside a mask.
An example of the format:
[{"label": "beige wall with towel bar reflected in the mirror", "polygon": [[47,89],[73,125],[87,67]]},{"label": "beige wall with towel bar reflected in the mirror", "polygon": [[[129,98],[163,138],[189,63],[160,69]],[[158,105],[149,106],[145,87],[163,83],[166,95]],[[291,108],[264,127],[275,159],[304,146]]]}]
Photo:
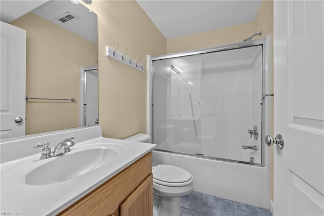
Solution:
[{"label": "beige wall with towel bar reflected in the mirror", "polygon": [[27,31],[26,95],[77,102],[26,102],[26,134],[78,127],[81,66],[97,65],[97,45],[28,13],[11,23]]}]

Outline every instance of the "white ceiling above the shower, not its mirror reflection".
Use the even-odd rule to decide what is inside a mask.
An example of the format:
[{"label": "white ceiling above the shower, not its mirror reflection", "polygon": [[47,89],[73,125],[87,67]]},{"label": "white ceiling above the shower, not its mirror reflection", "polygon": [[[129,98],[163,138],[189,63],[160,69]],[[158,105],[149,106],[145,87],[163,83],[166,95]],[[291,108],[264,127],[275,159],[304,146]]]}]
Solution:
[{"label": "white ceiling above the shower, not its mirror reflection", "polygon": [[166,39],[252,22],[261,0],[137,0]]}]

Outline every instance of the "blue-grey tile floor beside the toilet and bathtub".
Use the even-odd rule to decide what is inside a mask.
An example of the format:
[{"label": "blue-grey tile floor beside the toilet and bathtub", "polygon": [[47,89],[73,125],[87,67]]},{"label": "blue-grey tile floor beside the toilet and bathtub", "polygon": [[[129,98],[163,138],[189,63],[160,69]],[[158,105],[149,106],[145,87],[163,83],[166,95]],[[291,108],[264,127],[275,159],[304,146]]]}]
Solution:
[{"label": "blue-grey tile floor beside the toilet and bathtub", "polygon": [[181,216],[271,216],[268,209],[191,192],[180,197]]}]

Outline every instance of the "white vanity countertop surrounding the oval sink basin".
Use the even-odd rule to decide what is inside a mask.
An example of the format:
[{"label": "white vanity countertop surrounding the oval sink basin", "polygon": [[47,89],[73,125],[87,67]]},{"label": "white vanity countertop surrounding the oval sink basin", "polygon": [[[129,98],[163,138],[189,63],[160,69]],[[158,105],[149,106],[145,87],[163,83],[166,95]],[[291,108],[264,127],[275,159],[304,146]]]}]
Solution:
[{"label": "white vanity countertop surrounding the oval sink basin", "polygon": [[[15,213],[18,215],[54,215],[94,190],[155,147],[154,144],[150,143],[97,137],[76,142],[76,145],[71,147],[72,151],[70,153],[90,147],[93,143],[105,143],[105,145],[118,143],[123,148],[125,147],[125,151],[123,151],[123,155],[117,157],[109,165],[49,185],[28,185],[25,176],[31,170],[47,163],[49,160],[59,160],[60,157],[65,155],[40,160],[41,154],[38,151],[37,154],[2,163],[0,166],[0,210],[2,212],[11,212],[11,215]],[[70,153],[66,153],[66,155]],[[66,164],[66,166],[68,165]],[[44,174],[46,175],[46,173]]]}]

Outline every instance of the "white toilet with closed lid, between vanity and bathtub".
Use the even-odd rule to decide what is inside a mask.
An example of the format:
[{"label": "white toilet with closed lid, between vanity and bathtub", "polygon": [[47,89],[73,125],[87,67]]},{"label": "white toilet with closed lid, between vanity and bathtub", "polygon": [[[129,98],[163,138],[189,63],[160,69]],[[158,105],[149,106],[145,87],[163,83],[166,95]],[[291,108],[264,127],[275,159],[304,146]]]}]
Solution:
[{"label": "white toilet with closed lid, between vanity and bathtub", "polygon": [[[149,142],[151,136],[139,133],[125,140]],[[152,167],[153,193],[160,198],[157,216],[180,216],[180,196],[193,189],[192,175],[177,166],[158,164]]]}]

